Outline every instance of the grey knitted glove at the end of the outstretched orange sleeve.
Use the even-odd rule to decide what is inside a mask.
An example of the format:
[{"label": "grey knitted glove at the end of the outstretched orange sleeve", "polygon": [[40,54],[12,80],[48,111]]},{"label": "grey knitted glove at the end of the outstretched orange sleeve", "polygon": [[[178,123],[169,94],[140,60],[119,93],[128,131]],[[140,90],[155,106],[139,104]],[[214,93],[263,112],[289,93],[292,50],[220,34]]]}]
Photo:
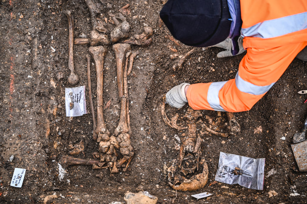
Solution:
[{"label": "grey knitted glove at the end of the outstretched orange sleeve", "polygon": [[190,85],[188,83],[182,83],[173,87],[166,93],[166,102],[175,108],[182,108],[187,102],[188,99],[185,96],[185,87]]}]

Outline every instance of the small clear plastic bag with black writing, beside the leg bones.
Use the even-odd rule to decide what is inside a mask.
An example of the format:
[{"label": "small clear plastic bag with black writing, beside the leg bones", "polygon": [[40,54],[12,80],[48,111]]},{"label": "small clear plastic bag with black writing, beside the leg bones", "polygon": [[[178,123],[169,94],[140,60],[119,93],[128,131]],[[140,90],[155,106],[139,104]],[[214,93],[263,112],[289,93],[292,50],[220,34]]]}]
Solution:
[{"label": "small clear plastic bag with black writing, beside the leg bones", "polygon": [[65,88],[66,117],[86,114],[85,86]]}]

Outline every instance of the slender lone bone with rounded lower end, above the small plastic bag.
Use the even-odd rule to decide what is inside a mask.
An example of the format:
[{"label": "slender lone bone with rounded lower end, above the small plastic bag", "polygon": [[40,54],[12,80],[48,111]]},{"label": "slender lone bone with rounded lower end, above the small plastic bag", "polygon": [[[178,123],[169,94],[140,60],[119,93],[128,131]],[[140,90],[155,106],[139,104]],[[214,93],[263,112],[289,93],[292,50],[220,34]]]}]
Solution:
[{"label": "slender lone bone with rounded lower end, above the small plastic bag", "polygon": [[75,74],[74,69],[74,53],[73,53],[73,39],[74,39],[74,20],[70,11],[65,11],[68,19],[68,69],[70,74],[68,76],[68,83],[76,85],[79,82],[79,77]]}]

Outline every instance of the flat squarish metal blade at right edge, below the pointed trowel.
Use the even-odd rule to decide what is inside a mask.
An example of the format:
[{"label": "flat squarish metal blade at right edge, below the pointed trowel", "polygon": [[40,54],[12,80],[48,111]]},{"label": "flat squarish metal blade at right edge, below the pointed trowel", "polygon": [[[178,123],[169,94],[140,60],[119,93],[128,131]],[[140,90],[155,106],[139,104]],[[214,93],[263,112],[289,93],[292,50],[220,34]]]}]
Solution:
[{"label": "flat squarish metal blade at right edge, below the pointed trowel", "polygon": [[300,172],[307,172],[307,140],[291,144],[295,161]]}]

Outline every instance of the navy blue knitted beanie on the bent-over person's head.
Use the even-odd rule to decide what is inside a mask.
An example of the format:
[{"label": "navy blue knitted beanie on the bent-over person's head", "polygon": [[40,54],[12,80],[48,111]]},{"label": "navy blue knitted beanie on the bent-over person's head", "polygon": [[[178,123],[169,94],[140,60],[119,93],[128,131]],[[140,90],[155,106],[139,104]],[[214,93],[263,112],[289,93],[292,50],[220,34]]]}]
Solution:
[{"label": "navy blue knitted beanie on the bent-over person's head", "polygon": [[227,0],[169,0],[160,17],[177,40],[194,47],[222,42],[231,25]]}]

